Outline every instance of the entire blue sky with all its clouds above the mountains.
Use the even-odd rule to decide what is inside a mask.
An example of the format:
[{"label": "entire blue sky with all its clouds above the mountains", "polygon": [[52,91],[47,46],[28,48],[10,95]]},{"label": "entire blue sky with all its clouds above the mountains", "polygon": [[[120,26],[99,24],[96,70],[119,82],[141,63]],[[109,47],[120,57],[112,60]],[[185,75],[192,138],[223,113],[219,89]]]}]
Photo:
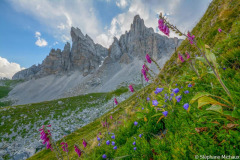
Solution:
[{"label": "entire blue sky with all its clouds above the mountains", "polygon": [[[0,77],[41,63],[51,48],[63,49],[71,26],[105,47],[129,30],[137,14],[157,27],[157,14],[191,30],[211,0],[1,0]],[[158,32],[158,30],[156,30]],[[160,32],[159,32],[160,33]],[[160,33],[161,34],[161,33]],[[176,36],[171,33],[171,37]]]}]

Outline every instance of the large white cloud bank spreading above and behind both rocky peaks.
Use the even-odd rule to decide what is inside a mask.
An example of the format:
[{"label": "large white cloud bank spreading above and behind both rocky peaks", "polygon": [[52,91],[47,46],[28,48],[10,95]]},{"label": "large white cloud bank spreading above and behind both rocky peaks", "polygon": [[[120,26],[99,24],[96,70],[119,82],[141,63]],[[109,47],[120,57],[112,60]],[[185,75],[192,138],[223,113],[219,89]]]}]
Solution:
[{"label": "large white cloud bank spreading above and behind both rocky peaks", "polygon": [[[166,14],[168,20],[181,31],[187,32],[199,21],[211,0],[117,0],[116,5],[126,11],[116,15],[111,24],[102,24],[101,18],[97,17],[98,8],[94,8],[94,0],[61,0],[57,3],[50,0],[10,2],[17,11],[31,15],[44,24],[46,32],[58,41],[70,41],[70,29],[74,26],[88,34],[95,42],[108,47],[114,36],[119,37],[130,29],[133,17],[137,14],[144,19],[147,27],[152,27],[159,34],[162,33],[156,28],[157,14],[160,12]],[[110,0],[105,2],[109,3]],[[176,34],[170,32],[170,37],[174,36]]]}]

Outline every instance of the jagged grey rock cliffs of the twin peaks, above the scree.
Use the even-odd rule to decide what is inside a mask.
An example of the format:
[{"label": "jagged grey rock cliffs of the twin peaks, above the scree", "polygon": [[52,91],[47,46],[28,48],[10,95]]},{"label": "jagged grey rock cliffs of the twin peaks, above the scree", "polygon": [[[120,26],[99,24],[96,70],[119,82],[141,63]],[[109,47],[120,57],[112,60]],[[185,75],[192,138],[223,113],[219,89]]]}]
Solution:
[{"label": "jagged grey rock cliffs of the twin peaks, above the scree", "polygon": [[22,70],[13,79],[41,78],[52,74],[65,74],[80,71],[83,76],[100,72],[101,68],[113,63],[129,64],[134,58],[144,60],[146,53],[158,60],[170,56],[181,40],[154,33],[144,25],[139,15],[134,17],[130,30],[114,41],[109,49],[104,48],[80,29],[71,28],[72,46],[66,43],[63,50],[52,49],[42,64]]}]

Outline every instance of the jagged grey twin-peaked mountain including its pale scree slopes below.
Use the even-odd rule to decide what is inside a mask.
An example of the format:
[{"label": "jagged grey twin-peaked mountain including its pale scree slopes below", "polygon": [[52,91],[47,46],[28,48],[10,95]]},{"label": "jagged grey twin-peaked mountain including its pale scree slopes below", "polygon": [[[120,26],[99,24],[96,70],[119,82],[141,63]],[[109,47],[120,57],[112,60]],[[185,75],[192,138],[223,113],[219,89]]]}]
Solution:
[{"label": "jagged grey twin-peaked mountain including its pale scree slopes below", "polygon": [[163,65],[182,41],[154,33],[138,15],[130,30],[119,40],[114,38],[109,49],[95,44],[78,28],[71,28],[71,37],[72,46],[67,43],[63,51],[52,49],[42,64],[13,76],[26,80],[9,93],[15,105],[109,92],[122,83],[139,84],[145,54]]}]

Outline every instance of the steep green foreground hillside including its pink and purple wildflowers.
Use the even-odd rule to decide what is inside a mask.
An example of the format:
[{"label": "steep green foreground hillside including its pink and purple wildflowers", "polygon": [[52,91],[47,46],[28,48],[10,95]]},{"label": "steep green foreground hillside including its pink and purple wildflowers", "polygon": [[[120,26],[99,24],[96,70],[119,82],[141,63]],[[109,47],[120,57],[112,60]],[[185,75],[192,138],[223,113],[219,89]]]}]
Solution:
[{"label": "steep green foreground hillside including its pink and purple wildflowers", "polygon": [[194,40],[185,39],[148,86],[133,85],[128,99],[56,143],[48,139],[53,151],[29,159],[239,159],[239,8],[237,0],[213,0]]}]

